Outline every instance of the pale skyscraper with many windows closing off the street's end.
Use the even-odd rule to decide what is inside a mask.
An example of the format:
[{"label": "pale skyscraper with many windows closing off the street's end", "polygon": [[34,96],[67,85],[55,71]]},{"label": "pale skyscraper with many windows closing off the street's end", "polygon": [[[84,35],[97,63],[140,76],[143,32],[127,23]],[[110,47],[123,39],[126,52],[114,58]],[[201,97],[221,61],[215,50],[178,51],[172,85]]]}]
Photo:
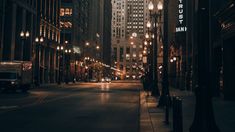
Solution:
[{"label": "pale skyscraper with many windows closing off the street's end", "polygon": [[149,17],[147,4],[148,0],[112,0],[112,66],[118,70],[113,72],[114,76],[139,76]]}]

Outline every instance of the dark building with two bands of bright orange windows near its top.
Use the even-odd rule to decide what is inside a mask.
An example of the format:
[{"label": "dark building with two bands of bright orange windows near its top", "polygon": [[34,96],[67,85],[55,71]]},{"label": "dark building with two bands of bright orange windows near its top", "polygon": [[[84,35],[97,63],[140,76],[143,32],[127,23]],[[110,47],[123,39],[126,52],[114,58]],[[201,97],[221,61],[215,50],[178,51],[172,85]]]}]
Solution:
[{"label": "dark building with two bands of bright orange windows near its top", "polygon": [[78,78],[79,65],[76,61],[80,59],[80,4],[78,0],[61,0],[60,7],[60,29],[61,43],[64,46],[64,54],[62,59],[61,81],[66,83],[75,81]]}]

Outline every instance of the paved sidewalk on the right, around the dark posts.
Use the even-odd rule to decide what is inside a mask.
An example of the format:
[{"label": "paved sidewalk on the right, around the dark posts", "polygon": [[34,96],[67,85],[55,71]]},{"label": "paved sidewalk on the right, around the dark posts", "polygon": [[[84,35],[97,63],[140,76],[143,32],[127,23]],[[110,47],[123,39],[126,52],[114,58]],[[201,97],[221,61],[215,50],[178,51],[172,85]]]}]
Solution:
[{"label": "paved sidewalk on the right, around the dark posts", "polygon": [[[170,89],[171,96],[181,96],[183,110],[183,132],[189,132],[194,119],[195,96],[192,92]],[[172,108],[170,108],[169,125],[165,125],[165,111],[157,108],[158,99],[140,92],[140,132],[170,132],[172,127]],[[213,98],[214,115],[220,132],[235,132],[235,101]]]}]

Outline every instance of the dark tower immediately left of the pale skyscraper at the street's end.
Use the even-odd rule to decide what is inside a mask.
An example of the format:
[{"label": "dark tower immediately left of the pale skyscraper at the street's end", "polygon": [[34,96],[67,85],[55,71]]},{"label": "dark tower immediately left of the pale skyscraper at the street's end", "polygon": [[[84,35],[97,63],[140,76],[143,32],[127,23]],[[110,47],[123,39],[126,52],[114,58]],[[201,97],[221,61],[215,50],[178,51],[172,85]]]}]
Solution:
[{"label": "dark tower immediately left of the pale skyscraper at the street's end", "polygon": [[[110,64],[111,57],[111,0],[89,0],[88,35],[84,39],[85,56]],[[105,74],[105,75],[104,75]],[[108,75],[107,70],[101,76]]]}]

